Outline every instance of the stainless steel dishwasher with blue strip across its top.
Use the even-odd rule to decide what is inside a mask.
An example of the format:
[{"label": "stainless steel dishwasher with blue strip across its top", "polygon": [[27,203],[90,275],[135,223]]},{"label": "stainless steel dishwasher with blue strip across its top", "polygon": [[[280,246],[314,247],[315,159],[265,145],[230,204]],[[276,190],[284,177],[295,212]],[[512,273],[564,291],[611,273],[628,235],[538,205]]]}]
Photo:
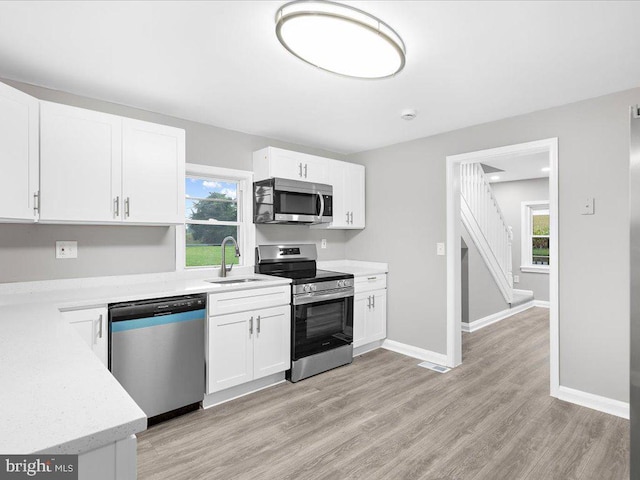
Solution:
[{"label": "stainless steel dishwasher with blue strip across its top", "polygon": [[109,370],[149,424],[204,397],[206,295],[109,305]]}]

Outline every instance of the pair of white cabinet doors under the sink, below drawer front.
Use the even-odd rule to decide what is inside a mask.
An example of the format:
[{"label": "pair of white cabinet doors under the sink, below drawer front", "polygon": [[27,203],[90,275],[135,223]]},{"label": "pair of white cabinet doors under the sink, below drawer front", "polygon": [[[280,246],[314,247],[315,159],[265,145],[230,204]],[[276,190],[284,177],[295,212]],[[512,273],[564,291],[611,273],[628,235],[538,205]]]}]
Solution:
[{"label": "pair of white cabinet doors under the sink, below drawer front", "polygon": [[290,368],[289,305],[213,315],[207,327],[207,394]]}]

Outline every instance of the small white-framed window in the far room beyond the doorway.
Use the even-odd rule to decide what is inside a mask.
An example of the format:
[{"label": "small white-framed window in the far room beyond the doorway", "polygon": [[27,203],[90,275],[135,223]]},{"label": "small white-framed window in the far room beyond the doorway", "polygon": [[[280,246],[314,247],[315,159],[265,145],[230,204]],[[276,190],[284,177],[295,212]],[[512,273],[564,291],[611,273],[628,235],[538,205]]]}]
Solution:
[{"label": "small white-framed window in the far room beyond the doorway", "polygon": [[549,202],[522,202],[521,223],[520,270],[549,273]]}]

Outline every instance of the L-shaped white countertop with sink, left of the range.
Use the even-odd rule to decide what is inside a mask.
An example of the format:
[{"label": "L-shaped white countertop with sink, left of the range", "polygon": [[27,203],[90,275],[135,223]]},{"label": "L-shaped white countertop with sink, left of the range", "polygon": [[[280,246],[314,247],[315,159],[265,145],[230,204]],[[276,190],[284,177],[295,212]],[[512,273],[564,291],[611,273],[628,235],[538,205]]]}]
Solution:
[{"label": "L-shaped white countertop with sink, left of the range", "polygon": [[[0,452],[76,454],[146,429],[146,416],[59,309],[254,289],[290,280],[237,269],[221,286],[211,273],[132,275],[0,285]],[[84,285],[84,286],[83,286]]]}]

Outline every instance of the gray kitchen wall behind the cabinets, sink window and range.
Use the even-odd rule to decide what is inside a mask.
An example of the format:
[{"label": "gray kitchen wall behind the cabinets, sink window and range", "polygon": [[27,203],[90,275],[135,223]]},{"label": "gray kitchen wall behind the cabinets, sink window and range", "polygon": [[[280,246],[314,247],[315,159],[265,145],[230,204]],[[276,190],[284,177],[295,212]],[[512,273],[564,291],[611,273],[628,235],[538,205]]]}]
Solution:
[{"label": "gray kitchen wall behind the cabinets, sink window and range", "polygon": [[[1,80],[36,98],[186,130],[187,162],[253,170],[252,153],[265,146],[343,160],[340,154],[247,135],[145,110],[108,103],[10,80]],[[344,258],[342,231],[318,232],[307,227],[276,231],[257,228],[258,243],[309,241],[318,243],[322,260]],[[328,248],[320,250],[320,239]],[[55,240],[77,240],[75,260],[55,259]],[[0,224],[0,283],[70,277],[167,272],[175,269],[175,234],[172,227],[66,226]]]}]

